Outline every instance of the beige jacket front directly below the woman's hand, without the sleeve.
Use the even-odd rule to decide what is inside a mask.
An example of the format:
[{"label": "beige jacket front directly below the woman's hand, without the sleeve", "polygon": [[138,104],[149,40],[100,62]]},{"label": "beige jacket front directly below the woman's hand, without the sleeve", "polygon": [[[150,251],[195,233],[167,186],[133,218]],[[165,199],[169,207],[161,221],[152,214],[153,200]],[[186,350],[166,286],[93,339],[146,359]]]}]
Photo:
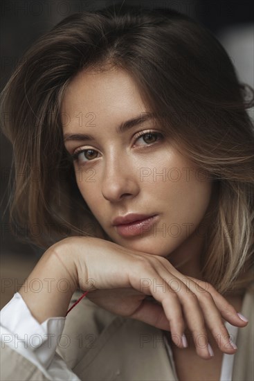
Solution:
[{"label": "beige jacket front directly below the woman's hand, without the sleeve", "polygon": [[63,334],[70,346],[57,352],[81,380],[176,379],[161,330],[106,312],[89,299],[67,315]]}]

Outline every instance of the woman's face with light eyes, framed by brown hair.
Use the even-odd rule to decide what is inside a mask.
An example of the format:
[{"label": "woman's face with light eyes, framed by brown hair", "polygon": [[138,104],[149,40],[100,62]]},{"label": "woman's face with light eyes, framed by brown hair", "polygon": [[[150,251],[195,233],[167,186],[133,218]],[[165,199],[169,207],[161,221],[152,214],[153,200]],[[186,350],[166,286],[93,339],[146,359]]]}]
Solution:
[{"label": "woman's face with light eyes, framed by brown hair", "polygon": [[[120,131],[122,123],[148,115],[125,71],[79,73],[61,111],[78,188],[111,240],[167,256],[193,237],[210,202],[211,182],[173,148],[154,118]],[[130,213],[155,217],[114,225]]]}]

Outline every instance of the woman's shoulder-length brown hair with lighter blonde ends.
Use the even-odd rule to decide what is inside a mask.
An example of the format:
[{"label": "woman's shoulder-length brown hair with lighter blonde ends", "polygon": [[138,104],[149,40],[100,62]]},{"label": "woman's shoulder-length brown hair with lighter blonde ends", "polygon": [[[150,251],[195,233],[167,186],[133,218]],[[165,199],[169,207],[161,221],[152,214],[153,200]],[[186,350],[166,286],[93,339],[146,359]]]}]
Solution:
[{"label": "woman's shoulder-length brown hair with lighter blonde ends", "polygon": [[64,149],[60,111],[77,73],[109,67],[134,78],[147,109],[163,116],[174,142],[216,184],[203,276],[228,290],[253,265],[254,132],[246,112],[253,89],[239,83],[213,35],[174,10],[77,13],[28,49],[1,94],[1,126],[13,145],[12,224],[28,224],[30,240],[43,247],[100,235]]}]

